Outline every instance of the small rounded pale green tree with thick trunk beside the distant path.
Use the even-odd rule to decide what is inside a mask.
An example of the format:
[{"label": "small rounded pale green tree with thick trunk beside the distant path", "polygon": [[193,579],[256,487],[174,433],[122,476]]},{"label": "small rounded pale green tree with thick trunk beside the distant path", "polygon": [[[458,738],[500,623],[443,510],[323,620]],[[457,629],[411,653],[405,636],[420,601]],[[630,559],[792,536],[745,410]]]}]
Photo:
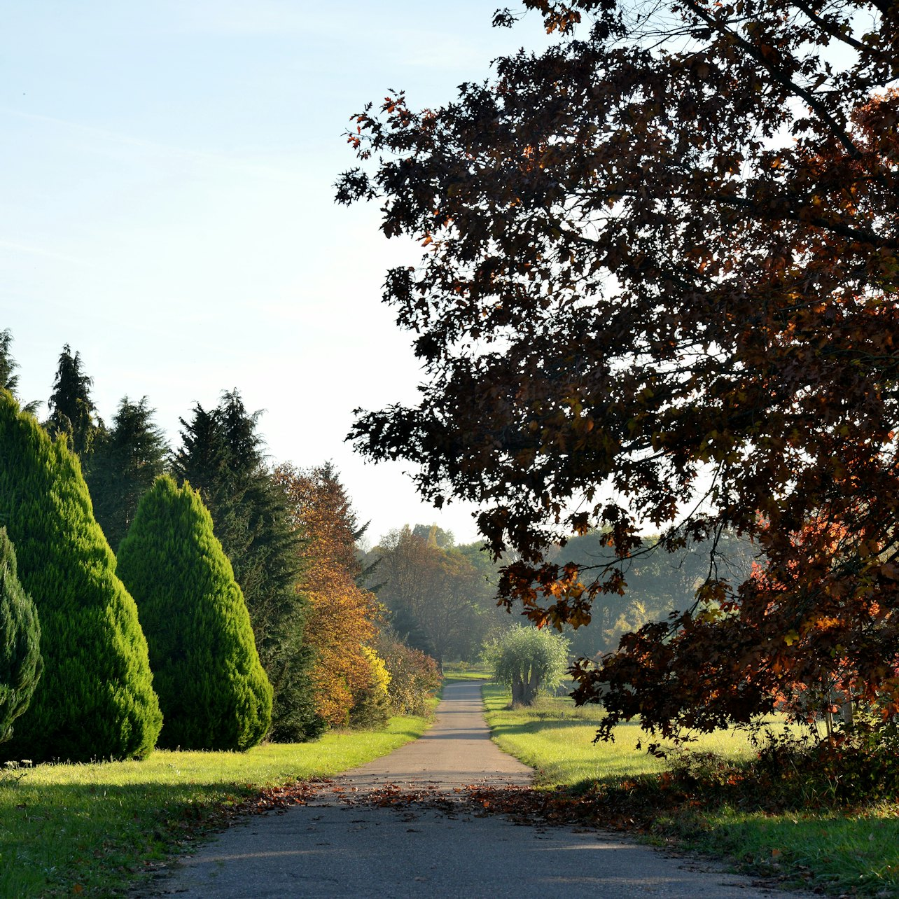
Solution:
[{"label": "small rounded pale green tree with thick trunk beside the distant path", "polygon": [[568,641],[526,625],[485,644],[484,659],[494,680],[512,689],[512,705],[532,706],[541,689],[555,687],[565,677]]}]

